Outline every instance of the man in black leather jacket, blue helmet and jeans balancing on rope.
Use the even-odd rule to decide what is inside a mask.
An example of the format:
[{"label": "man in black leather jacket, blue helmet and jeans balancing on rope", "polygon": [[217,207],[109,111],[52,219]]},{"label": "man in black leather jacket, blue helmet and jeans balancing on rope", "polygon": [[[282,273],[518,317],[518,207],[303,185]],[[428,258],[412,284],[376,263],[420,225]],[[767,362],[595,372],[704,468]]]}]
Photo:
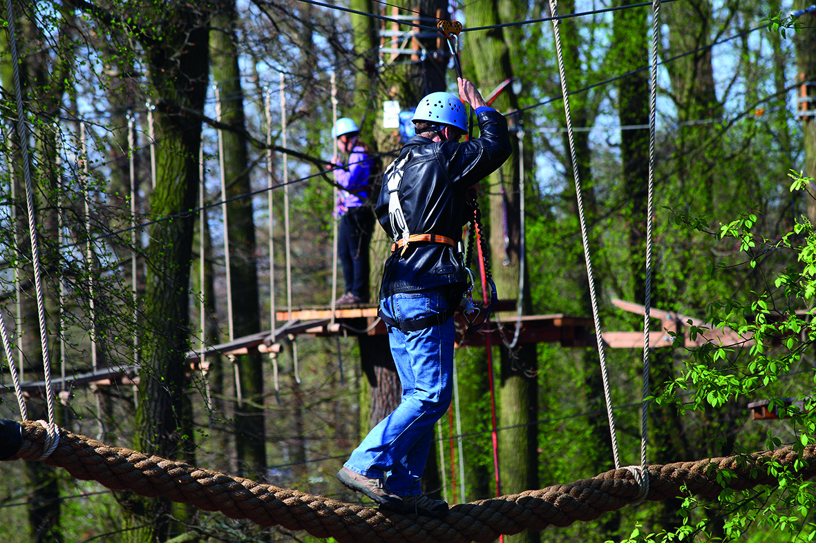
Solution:
[{"label": "man in black leather jacket, blue helmet and jeans balancing on rope", "polygon": [[376,207],[394,241],[379,291],[379,314],[402,383],[401,404],[370,431],[339,471],[348,488],[381,507],[444,516],[448,505],[422,495],[419,479],[432,428],[450,405],[453,313],[468,284],[459,245],[468,222],[468,189],[501,166],[512,149],[507,121],[476,87],[459,79],[459,96],[476,108],[481,136],[467,131],[462,101],[437,92],[419,103],[417,135],[388,166]]}]

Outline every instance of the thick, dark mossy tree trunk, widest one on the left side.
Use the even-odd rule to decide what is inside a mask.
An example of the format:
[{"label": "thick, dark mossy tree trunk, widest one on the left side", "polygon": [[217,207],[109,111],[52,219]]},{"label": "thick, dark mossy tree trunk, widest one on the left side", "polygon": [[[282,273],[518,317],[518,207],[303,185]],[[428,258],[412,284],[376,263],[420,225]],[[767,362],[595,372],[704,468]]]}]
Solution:
[{"label": "thick, dark mossy tree trunk, widest one on the left side", "polygon": [[[189,461],[193,435],[185,432],[191,419],[186,400],[189,338],[188,280],[195,215],[200,186],[198,148],[201,122],[178,107],[202,112],[209,55],[208,30],[198,7],[171,6],[159,29],[161,39],[144,38],[149,51],[149,84],[157,98],[156,188],[150,212],[174,219],[149,228],[145,322],[140,371],[139,409],[134,447],[143,453]],[[131,493],[118,497],[125,509],[126,541],[166,540],[170,502]]]}]

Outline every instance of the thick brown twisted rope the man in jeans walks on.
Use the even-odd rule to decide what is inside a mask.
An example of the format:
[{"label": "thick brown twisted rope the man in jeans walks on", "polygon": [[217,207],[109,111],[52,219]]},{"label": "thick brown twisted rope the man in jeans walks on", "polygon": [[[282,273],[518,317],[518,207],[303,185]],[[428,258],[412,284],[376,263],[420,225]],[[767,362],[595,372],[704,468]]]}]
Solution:
[{"label": "thick brown twisted rope the man in jeans walks on", "polygon": [[[816,445],[799,454],[792,448],[774,452],[647,466],[649,493],[628,469],[610,470],[592,479],[557,484],[490,500],[453,505],[444,519],[402,515],[352,505],[304,492],[277,488],[189,466],[180,461],[149,456],[127,448],[108,447],[94,439],[59,430],[59,444],[45,462],[64,468],[77,479],[95,480],[113,490],[130,490],[145,497],[164,497],[191,503],[207,511],[220,511],[231,519],[250,519],[261,526],[280,525],[305,530],[317,537],[334,537],[344,543],[438,541],[466,543],[494,541],[525,528],[541,530],[548,525],[568,526],[577,520],[596,519],[642,499],[661,501],[688,494],[716,497],[723,488],[744,490],[775,484],[767,474],[769,461],[808,478],[816,475]],[[48,446],[40,422],[0,420],[0,458],[36,460]],[[796,460],[801,460],[796,463]],[[796,469],[796,466],[799,466]],[[731,477],[717,483],[721,470]]]}]

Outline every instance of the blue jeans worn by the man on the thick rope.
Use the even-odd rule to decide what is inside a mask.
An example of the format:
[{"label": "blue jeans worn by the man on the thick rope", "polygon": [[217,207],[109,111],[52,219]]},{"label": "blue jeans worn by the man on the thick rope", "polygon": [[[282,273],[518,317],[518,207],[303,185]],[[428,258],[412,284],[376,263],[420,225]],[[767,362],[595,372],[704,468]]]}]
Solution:
[{"label": "blue jeans worn by the man on the thick rope", "polygon": [[[380,300],[384,314],[397,322],[441,313],[448,308],[445,291],[394,294]],[[394,411],[366,435],[344,464],[366,477],[386,479],[389,492],[418,496],[419,478],[428,460],[433,425],[447,411],[453,390],[455,324],[403,333],[388,329],[391,354],[402,383]]]}]

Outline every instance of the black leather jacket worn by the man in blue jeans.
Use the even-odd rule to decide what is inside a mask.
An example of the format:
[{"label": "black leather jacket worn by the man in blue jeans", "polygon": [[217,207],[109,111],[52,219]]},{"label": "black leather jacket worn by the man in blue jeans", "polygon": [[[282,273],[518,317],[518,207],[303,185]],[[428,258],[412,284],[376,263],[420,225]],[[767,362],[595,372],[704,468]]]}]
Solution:
[{"label": "black leather jacket worn by the man in blue jeans", "polygon": [[[470,219],[465,192],[499,169],[512,153],[508,125],[491,108],[477,114],[481,136],[462,143],[438,142],[422,136],[410,138],[397,161],[410,152],[399,197],[411,234],[439,234],[455,241],[462,239],[462,227]],[[393,240],[388,219],[388,178],[375,212],[379,223]],[[459,284],[460,293],[468,276],[458,250],[450,245],[412,242],[404,255],[394,251],[385,263],[379,298]]]}]

